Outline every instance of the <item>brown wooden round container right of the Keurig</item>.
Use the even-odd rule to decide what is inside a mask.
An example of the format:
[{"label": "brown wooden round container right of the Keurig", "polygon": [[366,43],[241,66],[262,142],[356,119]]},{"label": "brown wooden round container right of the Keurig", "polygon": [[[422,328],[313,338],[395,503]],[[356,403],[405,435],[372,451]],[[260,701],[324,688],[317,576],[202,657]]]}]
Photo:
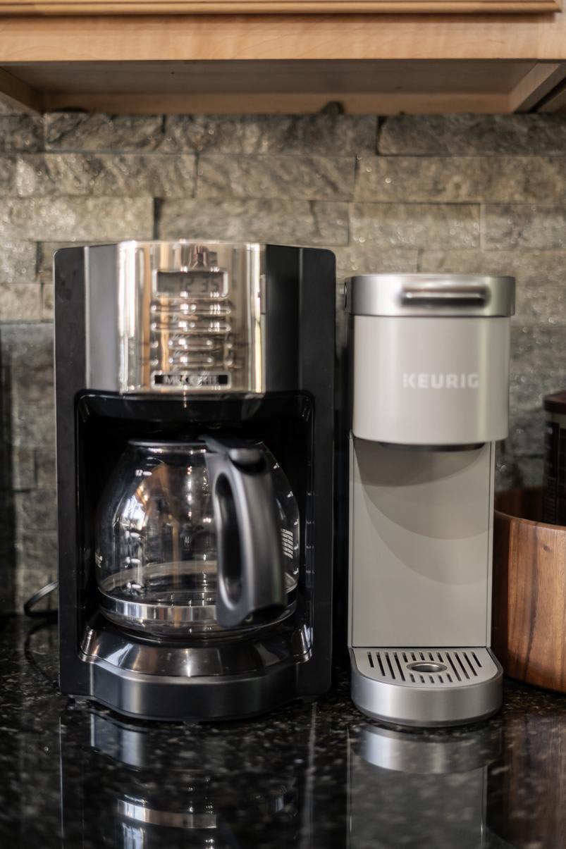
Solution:
[{"label": "brown wooden round container right of the Keurig", "polygon": [[542,522],[542,487],[495,498],[492,646],[504,671],[566,692],[566,527]]}]

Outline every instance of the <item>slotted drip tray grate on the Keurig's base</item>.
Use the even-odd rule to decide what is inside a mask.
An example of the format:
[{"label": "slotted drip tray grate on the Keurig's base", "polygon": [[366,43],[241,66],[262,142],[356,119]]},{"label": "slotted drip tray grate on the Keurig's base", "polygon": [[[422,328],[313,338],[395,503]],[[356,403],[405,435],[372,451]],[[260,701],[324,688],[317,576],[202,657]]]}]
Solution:
[{"label": "slotted drip tray grate on the Keurig's base", "polygon": [[497,675],[489,649],[353,649],[365,678],[401,687],[443,689]]}]

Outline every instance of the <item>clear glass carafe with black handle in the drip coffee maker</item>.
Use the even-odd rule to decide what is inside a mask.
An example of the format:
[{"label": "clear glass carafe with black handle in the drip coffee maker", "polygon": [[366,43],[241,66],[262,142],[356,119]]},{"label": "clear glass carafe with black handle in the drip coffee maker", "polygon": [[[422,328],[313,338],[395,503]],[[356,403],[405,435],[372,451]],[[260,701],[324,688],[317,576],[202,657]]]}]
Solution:
[{"label": "clear glass carafe with black handle in the drip coffee maker", "polygon": [[222,635],[293,609],[297,502],[262,443],[130,440],[99,502],[100,607],[148,636]]}]

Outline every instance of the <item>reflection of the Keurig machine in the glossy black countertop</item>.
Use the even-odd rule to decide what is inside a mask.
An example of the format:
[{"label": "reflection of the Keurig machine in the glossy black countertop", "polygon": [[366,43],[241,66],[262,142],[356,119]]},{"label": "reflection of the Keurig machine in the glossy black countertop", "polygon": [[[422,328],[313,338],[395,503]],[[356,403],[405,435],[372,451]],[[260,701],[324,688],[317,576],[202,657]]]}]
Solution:
[{"label": "reflection of the Keurig machine in the glossy black countertop", "polygon": [[349,728],[348,849],[503,849],[487,811],[488,767],[501,742],[497,722],[456,734]]}]

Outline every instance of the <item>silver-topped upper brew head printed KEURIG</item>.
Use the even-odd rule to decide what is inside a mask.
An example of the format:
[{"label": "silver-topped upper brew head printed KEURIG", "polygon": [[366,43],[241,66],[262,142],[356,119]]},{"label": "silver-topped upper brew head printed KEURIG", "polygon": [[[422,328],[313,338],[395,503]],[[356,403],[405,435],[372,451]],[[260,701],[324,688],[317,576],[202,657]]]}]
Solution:
[{"label": "silver-topped upper brew head printed KEURIG", "polygon": [[347,291],[354,436],[424,446],[507,436],[512,278],[364,274]]}]

